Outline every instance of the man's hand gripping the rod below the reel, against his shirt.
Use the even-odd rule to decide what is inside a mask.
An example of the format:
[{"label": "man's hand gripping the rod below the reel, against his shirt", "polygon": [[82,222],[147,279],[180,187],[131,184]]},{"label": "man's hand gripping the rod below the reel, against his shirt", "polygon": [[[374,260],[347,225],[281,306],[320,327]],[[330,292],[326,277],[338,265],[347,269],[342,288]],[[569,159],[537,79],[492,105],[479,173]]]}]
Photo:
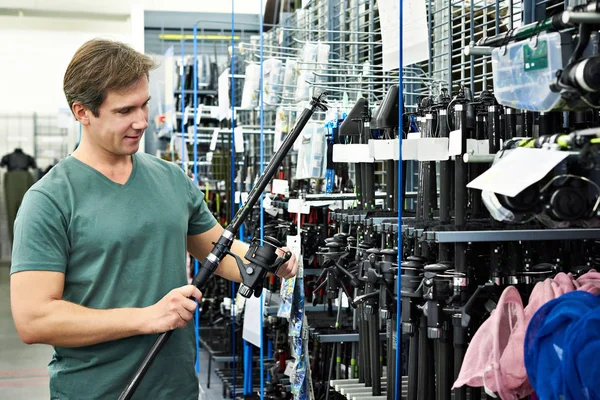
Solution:
[{"label": "man's hand gripping the rod below the reel, against his shirt", "polygon": [[158,303],[146,307],[148,333],[163,333],[185,327],[194,318],[197,307],[190,297],[200,301],[202,293],[194,285],[182,286],[171,290]]}]

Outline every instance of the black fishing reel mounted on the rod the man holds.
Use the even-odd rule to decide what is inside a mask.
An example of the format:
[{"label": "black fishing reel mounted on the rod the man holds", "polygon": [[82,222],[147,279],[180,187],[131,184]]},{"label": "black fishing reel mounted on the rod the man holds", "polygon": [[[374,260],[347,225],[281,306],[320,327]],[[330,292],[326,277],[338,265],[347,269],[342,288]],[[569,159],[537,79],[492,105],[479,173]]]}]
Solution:
[{"label": "black fishing reel mounted on the rod the man holds", "polygon": [[243,283],[240,285],[239,294],[246,298],[252,294],[260,297],[267,273],[276,273],[279,267],[292,258],[291,251],[286,251],[283,256],[277,255],[277,249],[281,246],[282,244],[271,236],[265,236],[262,243],[260,238],[252,239],[250,248],[244,256],[249,263],[244,263],[240,257],[231,251],[228,252],[235,258],[242,275]]}]

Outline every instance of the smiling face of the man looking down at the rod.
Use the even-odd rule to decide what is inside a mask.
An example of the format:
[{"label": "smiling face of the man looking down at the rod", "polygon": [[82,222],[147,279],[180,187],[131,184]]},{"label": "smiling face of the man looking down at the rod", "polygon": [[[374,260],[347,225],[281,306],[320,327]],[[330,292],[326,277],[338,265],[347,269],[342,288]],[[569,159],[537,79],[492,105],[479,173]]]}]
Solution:
[{"label": "smiling face of the man looking down at the rod", "polygon": [[110,155],[128,156],[137,152],[148,127],[149,100],[146,77],[125,90],[108,91],[98,117],[89,113],[90,141]]}]

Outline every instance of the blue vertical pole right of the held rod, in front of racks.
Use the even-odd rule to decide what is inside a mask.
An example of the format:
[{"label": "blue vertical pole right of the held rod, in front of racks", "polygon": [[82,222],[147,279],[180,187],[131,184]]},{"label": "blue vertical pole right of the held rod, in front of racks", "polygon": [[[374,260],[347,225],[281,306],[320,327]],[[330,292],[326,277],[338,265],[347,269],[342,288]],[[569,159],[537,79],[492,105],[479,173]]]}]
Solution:
[{"label": "blue vertical pole right of the held rod, in front of racks", "polygon": [[[399,161],[398,161],[398,188],[402,189],[402,109],[404,108],[404,98],[403,98],[403,94],[404,94],[404,90],[402,87],[402,47],[403,47],[403,43],[402,43],[402,3],[403,0],[398,0],[399,4],[398,4],[398,8],[399,8],[399,21],[400,21],[400,29],[399,29],[399,35],[400,35],[400,40],[399,40],[399,46],[398,46],[398,55],[399,55],[399,67],[398,67],[398,155],[399,155]],[[401,288],[402,288],[402,274],[400,271],[400,265],[402,263],[402,190],[398,190],[398,278],[396,280],[397,282],[397,299],[396,299],[396,390],[395,390],[395,394],[394,394],[394,398],[396,400],[400,400],[402,397],[400,396],[401,394],[401,388],[402,388],[402,368],[400,365],[400,360],[401,360],[401,354],[402,354],[402,341],[401,341],[401,336],[402,336],[402,331],[400,330],[400,321],[402,320],[401,314],[402,314],[402,307],[400,305],[400,293],[402,292]]]}]

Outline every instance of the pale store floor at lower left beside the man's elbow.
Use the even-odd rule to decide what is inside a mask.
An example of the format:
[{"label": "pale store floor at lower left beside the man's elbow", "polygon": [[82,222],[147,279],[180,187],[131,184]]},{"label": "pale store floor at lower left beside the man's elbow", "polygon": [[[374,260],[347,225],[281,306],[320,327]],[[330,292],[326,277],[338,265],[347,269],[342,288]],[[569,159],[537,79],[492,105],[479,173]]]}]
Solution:
[{"label": "pale store floor at lower left beside the man's elbow", "polygon": [[0,265],[0,398],[47,400],[52,348],[21,342],[10,313],[9,267]]}]

